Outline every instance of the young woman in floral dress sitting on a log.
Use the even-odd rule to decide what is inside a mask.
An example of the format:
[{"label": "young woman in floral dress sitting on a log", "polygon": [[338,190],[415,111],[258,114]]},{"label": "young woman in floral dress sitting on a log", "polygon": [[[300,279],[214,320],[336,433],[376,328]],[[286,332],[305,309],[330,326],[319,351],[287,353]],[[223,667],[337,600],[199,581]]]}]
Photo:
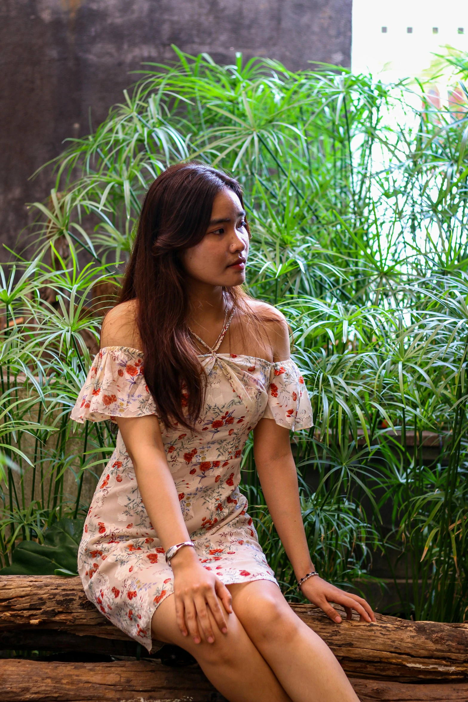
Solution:
[{"label": "young woman in floral dress sitting on a log", "polygon": [[79,549],[86,595],[148,650],[189,651],[232,702],[351,702],[330,649],[288,606],[239,491],[255,465],[302,594],[375,621],[316,574],[290,430],[312,410],[283,315],[243,292],[249,230],[239,183],[200,164],[161,173],[142,206],[121,302],[72,418],[117,423]]}]

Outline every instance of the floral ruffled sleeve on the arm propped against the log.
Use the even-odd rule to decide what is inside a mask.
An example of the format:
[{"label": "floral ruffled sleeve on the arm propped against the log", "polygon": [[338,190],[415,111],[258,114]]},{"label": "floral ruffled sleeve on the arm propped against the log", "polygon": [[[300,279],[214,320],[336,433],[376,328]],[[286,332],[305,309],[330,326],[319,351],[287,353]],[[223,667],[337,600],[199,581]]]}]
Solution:
[{"label": "floral ruffled sleeve on the arm propped against the log", "polygon": [[264,417],[293,431],[313,425],[309,393],[292,359],[272,364]]}]

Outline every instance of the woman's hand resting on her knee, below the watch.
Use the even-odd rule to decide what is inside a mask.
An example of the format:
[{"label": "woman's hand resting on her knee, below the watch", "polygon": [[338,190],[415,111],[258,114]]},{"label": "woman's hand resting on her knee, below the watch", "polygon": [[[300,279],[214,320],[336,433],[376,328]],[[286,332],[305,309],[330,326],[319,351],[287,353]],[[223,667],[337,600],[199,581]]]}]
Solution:
[{"label": "woman's hand resting on her knee, below the watch", "polygon": [[[212,644],[215,633],[211,625],[208,609],[220,632],[227,633],[225,611],[232,614],[232,597],[219,578],[203,568],[193,548],[181,548],[171,559],[174,574],[175,614],[183,636],[192,636],[194,642],[201,642],[201,635]],[[201,629],[201,631],[200,631]]]}]

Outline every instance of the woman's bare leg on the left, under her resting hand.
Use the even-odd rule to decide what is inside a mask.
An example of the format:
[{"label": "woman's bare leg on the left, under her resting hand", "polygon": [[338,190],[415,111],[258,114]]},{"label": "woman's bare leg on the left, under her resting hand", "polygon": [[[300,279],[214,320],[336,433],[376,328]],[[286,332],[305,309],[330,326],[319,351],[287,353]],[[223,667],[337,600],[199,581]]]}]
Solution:
[{"label": "woman's bare leg on the left, under her resting hand", "polygon": [[[222,607],[221,601],[220,604]],[[220,633],[210,615],[215,642],[208,644],[201,635],[201,643],[195,644],[192,637],[180,633],[174,598],[167,597],[154,612],[152,635],[189,651],[208,680],[230,702],[290,702],[236,615],[225,612],[225,617],[227,634]],[[199,630],[202,631],[201,627]]]}]

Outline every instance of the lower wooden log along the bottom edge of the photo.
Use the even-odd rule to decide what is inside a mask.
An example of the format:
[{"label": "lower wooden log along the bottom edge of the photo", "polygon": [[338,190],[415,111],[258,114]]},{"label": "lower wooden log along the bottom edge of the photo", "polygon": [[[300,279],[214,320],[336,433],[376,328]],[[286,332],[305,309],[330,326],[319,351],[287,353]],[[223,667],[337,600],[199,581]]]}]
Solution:
[{"label": "lower wooden log along the bottom edge of the photo", "polygon": [[[406,684],[350,680],[361,702],[466,702],[468,683]],[[154,661],[44,663],[0,661],[3,702],[225,702],[198,666]]]}]

